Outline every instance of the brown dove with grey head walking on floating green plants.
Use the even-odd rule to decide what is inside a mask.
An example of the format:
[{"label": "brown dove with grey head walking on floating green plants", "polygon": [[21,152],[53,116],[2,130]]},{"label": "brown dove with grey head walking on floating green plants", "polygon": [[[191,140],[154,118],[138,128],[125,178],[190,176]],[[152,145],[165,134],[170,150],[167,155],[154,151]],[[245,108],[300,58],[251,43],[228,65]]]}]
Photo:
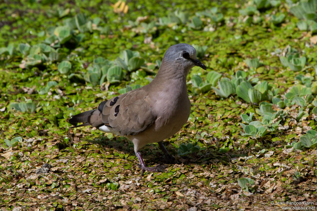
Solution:
[{"label": "brown dove with grey head walking on floating green plants", "polygon": [[174,159],[163,140],[177,133],[188,120],[191,102],[186,77],[194,66],[206,70],[206,66],[197,59],[193,46],[186,43],[172,45],[166,50],[151,83],[103,101],[97,109],[72,116],[68,122],[74,126],[70,128],[92,126],[106,133],[124,136],[134,144],[141,175],[145,171],[161,172],[164,170],[161,164],[146,166],[140,149],[148,143],[158,142],[165,158]]}]

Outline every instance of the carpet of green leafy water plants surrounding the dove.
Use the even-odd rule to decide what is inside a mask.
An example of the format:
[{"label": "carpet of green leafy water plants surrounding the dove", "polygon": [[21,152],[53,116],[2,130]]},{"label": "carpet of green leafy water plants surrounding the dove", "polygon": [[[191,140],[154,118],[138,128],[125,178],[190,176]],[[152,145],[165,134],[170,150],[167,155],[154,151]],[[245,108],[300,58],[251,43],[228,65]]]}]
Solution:
[{"label": "carpet of green leafy water plants surrounding the dove", "polygon": [[[0,209],[316,205],[316,10],[316,0],[0,3]],[[176,164],[141,177],[133,143],[67,120],[148,84],[177,43],[207,71],[189,73],[191,115],[166,146]],[[157,144],[142,155],[164,160]]]}]

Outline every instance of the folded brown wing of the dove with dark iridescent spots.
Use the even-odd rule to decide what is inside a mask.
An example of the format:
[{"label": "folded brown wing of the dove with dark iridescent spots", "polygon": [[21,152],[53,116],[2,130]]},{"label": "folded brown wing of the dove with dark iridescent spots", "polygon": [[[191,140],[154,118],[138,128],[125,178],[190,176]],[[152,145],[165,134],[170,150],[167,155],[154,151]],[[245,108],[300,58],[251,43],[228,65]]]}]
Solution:
[{"label": "folded brown wing of the dove with dark iridescent spots", "polygon": [[101,102],[98,110],[102,111],[102,122],[106,126],[120,135],[136,135],[157,119],[150,106],[152,103],[148,92],[137,89]]}]

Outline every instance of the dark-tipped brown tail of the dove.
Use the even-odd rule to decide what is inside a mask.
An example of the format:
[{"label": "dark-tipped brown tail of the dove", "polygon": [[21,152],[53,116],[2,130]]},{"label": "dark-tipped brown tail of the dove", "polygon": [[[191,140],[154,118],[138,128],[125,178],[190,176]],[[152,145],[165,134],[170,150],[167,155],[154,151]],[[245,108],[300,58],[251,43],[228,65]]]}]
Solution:
[{"label": "dark-tipped brown tail of the dove", "polygon": [[[98,127],[101,125],[104,125],[102,122],[102,113],[98,109],[90,110],[90,111],[85,111],[83,113],[77,114],[72,116],[68,120],[69,123],[74,125],[73,127],[70,128],[75,128],[75,127],[82,127],[82,126],[88,126],[91,125],[92,127]],[[77,125],[77,123],[82,123],[81,125]]]}]

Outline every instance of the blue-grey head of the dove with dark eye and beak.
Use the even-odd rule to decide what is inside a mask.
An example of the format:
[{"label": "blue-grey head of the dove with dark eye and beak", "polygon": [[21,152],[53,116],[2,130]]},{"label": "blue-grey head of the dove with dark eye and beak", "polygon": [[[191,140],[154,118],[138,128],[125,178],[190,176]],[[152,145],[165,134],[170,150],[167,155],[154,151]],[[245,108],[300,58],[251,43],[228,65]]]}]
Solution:
[{"label": "blue-grey head of the dove with dark eye and beak", "polygon": [[206,70],[206,66],[197,59],[196,49],[186,43],[172,45],[164,54],[162,63],[174,63],[184,66],[188,71],[193,66],[199,66]]}]

